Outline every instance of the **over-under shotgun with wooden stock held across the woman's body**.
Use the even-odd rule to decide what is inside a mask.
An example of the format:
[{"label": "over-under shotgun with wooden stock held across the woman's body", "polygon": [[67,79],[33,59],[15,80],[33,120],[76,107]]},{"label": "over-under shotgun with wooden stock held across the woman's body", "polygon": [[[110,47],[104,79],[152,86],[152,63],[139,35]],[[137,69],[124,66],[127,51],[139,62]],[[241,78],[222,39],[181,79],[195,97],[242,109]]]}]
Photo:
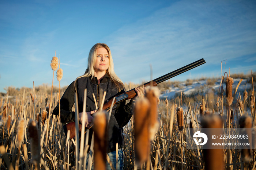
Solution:
[{"label": "over-under shotgun with wooden stock held across the woman's body", "polygon": [[[200,60],[197,60],[189,65],[186,65],[184,67],[181,67],[180,69],[177,69],[177,70],[174,70],[173,72],[170,72],[168,74],[165,74],[161,77],[158,77],[156,79],[154,79],[153,81],[149,81],[143,85],[140,85],[140,87],[143,87],[143,86],[149,86],[149,85],[153,85],[153,86],[157,86],[157,84],[163,82],[163,81],[166,81],[166,80],[169,80],[170,78],[172,77],[175,77],[175,76],[178,76],[179,74],[181,73],[184,73],[184,72],[187,72],[188,70],[191,70],[197,66],[200,66],[202,64],[206,63],[204,61],[204,59],[200,59]],[[135,89],[135,88],[134,88]],[[103,108],[102,110],[106,110],[106,109],[109,109],[111,107],[111,104],[113,102],[113,99],[114,99],[114,104],[117,104],[123,100],[129,100],[133,97],[136,96],[136,92],[134,89],[131,89],[125,93],[122,93],[118,96],[115,96],[113,97],[112,99],[110,99],[109,101],[107,101],[104,105],[103,105]],[[73,139],[75,137],[75,122],[71,122],[71,123],[68,123],[68,124],[65,124],[63,126],[63,129],[64,129],[64,132],[65,132],[65,135],[67,136],[67,132],[68,130],[70,131],[70,139]],[[82,130],[82,124],[79,122],[79,132],[81,132]]]}]

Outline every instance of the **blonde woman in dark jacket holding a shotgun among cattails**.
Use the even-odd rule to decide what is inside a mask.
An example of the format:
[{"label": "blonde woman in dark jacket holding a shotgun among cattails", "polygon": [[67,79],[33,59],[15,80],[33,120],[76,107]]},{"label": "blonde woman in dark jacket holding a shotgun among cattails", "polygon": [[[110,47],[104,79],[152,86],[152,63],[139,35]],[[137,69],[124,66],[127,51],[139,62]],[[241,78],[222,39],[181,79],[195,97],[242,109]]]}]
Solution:
[{"label": "blonde woman in dark jacket holding a shotgun among cattails", "polygon": [[[84,89],[87,89],[86,98],[86,127],[90,127],[93,123],[93,113],[96,112],[96,105],[99,107],[101,97],[99,94],[106,92],[105,101],[111,99],[118,94],[124,93],[124,84],[114,73],[113,59],[111,51],[106,44],[95,44],[89,53],[88,67],[83,76],[76,78],[72,82],[60,99],[60,120],[63,123],[75,121],[75,112],[71,111],[74,105],[75,92],[78,93],[78,110],[79,121],[82,123],[83,98]],[[142,88],[135,88],[138,97],[143,95]],[[96,98],[94,102],[93,94]],[[105,102],[104,101],[104,102]],[[134,98],[125,105],[125,101],[113,107],[108,125],[108,155],[116,168],[116,143],[118,143],[118,167],[123,169],[123,147],[124,136],[123,127],[129,122],[133,115],[132,106]],[[53,110],[54,115],[59,115],[59,105]],[[92,130],[89,134],[89,144],[91,141]],[[107,163],[107,169],[110,166]],[[111,169],[111,168],[110,168]]]}]

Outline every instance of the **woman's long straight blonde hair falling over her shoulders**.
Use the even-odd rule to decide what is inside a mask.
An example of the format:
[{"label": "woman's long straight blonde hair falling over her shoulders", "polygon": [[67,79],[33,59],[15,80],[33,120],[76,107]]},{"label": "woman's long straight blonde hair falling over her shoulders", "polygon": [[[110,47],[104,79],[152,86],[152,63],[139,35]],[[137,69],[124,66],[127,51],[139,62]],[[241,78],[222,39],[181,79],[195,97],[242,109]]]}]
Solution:
[{"label": "woman's long straight blonde hair falling over her shoulders", "polygon": [[[121,81],[121,79],[114,72],[114,62],[113,62],[113,59],[112,59],[110,48],[108,47],[108,45],[106,45],[104,43],[97,43],[93,47],[91,47],[91,50],[90,50],[89,55],[88,55],[87,69],[86,69],[85,73],[83,74],[83,76],[79,76],[78,78],[91,77],[91,79],[92,79],[94,77],[94,72],[95,72],[94,64],[96,62],[96,50],[98,48],[101,48],[101,47],[105,48],[108,51],[108,54],[109,54],[109,67],[106,70],[106,73],[109,74],[110,80],[117,86],[118,90],[120,91],[121,89],[124,88],[124,84]],[[76,78],[75,84],[76,84],[76,81],[78,80],[78,78]],[[75,89],[76,89],[76,86],[75,86]]]}]

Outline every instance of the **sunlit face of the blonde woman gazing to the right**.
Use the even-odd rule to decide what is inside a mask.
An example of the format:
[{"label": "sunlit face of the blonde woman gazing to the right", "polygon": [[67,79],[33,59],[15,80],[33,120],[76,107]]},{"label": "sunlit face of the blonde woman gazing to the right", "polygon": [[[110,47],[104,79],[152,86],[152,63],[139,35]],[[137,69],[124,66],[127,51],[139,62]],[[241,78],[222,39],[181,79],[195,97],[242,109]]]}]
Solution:
[{"label": "sunlit face of the blonde woman gazing to the right", "polygon": [[94,64],[95,72],[105,72],[109,68],[109,53],[108,51],[100,47],[96,50],[96,62]]}]

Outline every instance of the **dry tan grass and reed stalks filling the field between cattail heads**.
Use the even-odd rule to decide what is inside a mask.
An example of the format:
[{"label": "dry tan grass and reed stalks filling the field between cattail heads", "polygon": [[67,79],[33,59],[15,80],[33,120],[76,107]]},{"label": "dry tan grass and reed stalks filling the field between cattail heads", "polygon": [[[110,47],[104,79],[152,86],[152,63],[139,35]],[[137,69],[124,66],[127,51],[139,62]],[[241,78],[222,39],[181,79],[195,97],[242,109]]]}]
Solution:
[{"label": "dry tan grass and reed stalks filling the field between cattail heads", "polygon": [[[233,77],[235,78],[235,76]],[[166,82],[161,89],[166,89],[169,83],[170,82]],[[212,84],[212,82],[209,84]],[[130,83],[125,86],[128,90],[137,85]],[[36,87],[35,96],[37,97],[31,98],[31,96],[33,96],[30,95],[30,93],[33,94],[32,89],[16,89],[11,87],[10,92],[8,92],[13,96],[12,99],[9,100],[9,98],[7,100],[7,97],[3,97],[2,104],[0,105],[0,113],[2,117],[0,123],[1,169],[11,169],[15,166],[18,169],[36,169],[36,167],[38,167],[38,169],[72,169],[74,168],[75,162],[79,164],[78,169],[90,169],[91,162],[93,162],[94,152],[92,147],[88,147],[88,141],[85,141],[86,144],[84,151],[86,152],[82,154],[82,157],[79,156],[77,154],[78,150],[76,150],[77,146],[75,145],[75,141],[66,138],[64,135],[62,128],[63,124],[59,124],[56,117],[52,117],[51,114],[49,114],[50,110],[53,110],[53,108],[49,109],[49,100],[46,99],[50,96],[50,88],[51,87],[48,85]],[[65,88],[60,90],[60,96],[62,96]],[[204,89],[201,90],[203,91]],[[251,112],[249,107],[252,104],[250,103],[249,98],[246,97],[251,96],[252,90],[247,89],[246,93],[248,94],[245,94],[244,92],[242,97],[239,93],[237,93],[236,96],[231,93],[234,101],[228,105],[226,104],[225,97],[226,90],[223,89],[223,86],[221,86],[217,94],[213,92],[202,93],[201,90],[194,96],[185,96],[179,93],[176,98],[168,101],[168,104],[166,104],[165,100],[160,100],[158,103],[156,101],[157,95],[152,94],[151,97],[148,97],[155,101],[154,105],[157,105],[157,109],[154,108],[154,110],[157,112],[156,116],[158,117],[157,122],[159,122],[159,127],[157,128],[156,134],[153,135],[153,140],[145,145],[149,146],[149,148],[144,148],[144,150],[147,151],[147,154],[146,156],[143,156],[142,160],[140,160],[142,164],[137,167],[135,148],[137,150],[139,146],[143,146],[143,143],[140,143],[140,145],[137,146],[136,140],[138,138],[146,138],[137,136],[140,131],[135,127],[142,123],[150,124],[151,120],[148,120],[148,122],[142,121],[140,123],[136,123],[138,119],[136,120],[136,117],[134,119],[132,117],[129,124],[124,127],[124,169],[204,169],[209,166],[216,165],[216,162],[219,163],[219,170],[255,168],[255,149],[249,150],[249,152],[248,150],[240,151],[238,149],[222,149],[218,151],[208,150],[207,152],[202,148],[193,150],[185,147],[185,130],[190,127],[201,127],[199,119],[200,103],[204,103],[202,114],[205,113],[204,111],[208,111],[207,114],[210,114],[210,116],[217,116],[218,119],[223,121],[222,125],[224,128],[233,130],[234,127],[239,127],[237,120],[241,119],[242,122],[243,116],[252,117],[253,122],[251,125],[252,127],[255,127],[256,125],[255,112]],[[53,100],[51,104],[53,107],[55,107],[58,102],[58,91],[59,88],[56,87],[54,90],[53,87]],[[227,91],[229,90],[227,89]],[[238,101],[240,101],[240,104]],[[7,103],[9,107],[6,107],[8,106]],[[218,103],[218,106],[216,103]],[[139,107],[139,104],[137,106]],[[178,114],[175,114],[178,107],[182,108],[182,112],[179,110],[179,112],[177,111]],[[230,114],[231,110],[232,117]],[[138,114],[140,112],[141,111],[139,110]],[[8,117],[8,119],[3,119],[4,113],[5,117]],[[40,114],[41,116],[39,116]],[[10,116],[11,118],[9,119]],[[33,120],[33,117],[35,117],[36,121]],[[152,117],[155,116],[153,115]],[[47,121],[49,123],[46,123]],[[212,123],[212,121],[213,120],[207,120],[206,125],[213,125],[214,123]],[[217,126],[218,123],[216,123],[216,127]],[[144,131],[143,128],[141,131],[142,130]],[[39,139],[35,138],[35,134],[33,135],[33,132],[36,131],[38,132]],[[149,132],[147,133],[149,134]],[[47,137],[46,134],[48,134]],[[87,134],[89,134],[88,131],[86,135]],[[145,135],[145,133],[142,134]],[[255,135],[252,135],[252,139],[254,138]],[[36,139],[38,139],[38,141],[36,141]],[[97,140],[96,138],[93,138],[93,140],[94,139]],[[33,147],[36,146],[34,143],[37,143],[39,146],[39,149],[37,150],[39,158],[34,157],[34,155],[36,155],[36,153],[34,154],[35,149],[33,149]],[[94,141],[92,141],[92,143],[94,143]],[[87,150],[89,150],[88,166],[86,166],[86,163],[83,163],[84,161],[82,161],[82,159],[87,156]],[[211,159],[209,155],[217,156]],[[33,163],[33,160],[36,160],[36,163],[35,161]]]}]

